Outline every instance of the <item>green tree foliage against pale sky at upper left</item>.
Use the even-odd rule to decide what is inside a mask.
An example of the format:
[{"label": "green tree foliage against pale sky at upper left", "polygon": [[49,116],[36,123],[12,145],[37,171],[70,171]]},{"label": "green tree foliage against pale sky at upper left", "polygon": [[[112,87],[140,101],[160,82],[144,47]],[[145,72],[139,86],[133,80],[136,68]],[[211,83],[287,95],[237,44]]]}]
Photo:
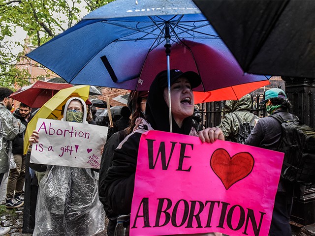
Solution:
[{"label": "green tree foliage against pale sky at upper left", "polygon": [[38,47],[76,24],[83,12],[89,13],[110,1],[0,0],[0,86],[30,83],[31,75],[23,66],[34,62],[25,56],[25,51],[16,55],[12,50],[24,46],[12,38],[17,29],[25,30],[29,43]]}]

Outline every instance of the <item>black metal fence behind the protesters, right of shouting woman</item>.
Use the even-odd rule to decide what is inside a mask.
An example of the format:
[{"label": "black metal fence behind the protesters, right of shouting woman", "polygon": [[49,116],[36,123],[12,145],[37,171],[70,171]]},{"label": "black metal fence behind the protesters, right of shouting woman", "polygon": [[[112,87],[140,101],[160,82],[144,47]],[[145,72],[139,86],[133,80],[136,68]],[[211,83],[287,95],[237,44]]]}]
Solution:
[{"label": "black metal fence behind the protesters, right of shouting woman", "polygon": [[[266,116],[265,107],[259,105],[259,102],[263,99],[263,93],[252,94],[251,112],[258,117]],[[224,113],[222,112],[224,104],[225,101],[207,102],[200,104],[199,110],[202,117],[201,124],[206,128],[218,126],[221,122],[221,119],[224,117]]]}]

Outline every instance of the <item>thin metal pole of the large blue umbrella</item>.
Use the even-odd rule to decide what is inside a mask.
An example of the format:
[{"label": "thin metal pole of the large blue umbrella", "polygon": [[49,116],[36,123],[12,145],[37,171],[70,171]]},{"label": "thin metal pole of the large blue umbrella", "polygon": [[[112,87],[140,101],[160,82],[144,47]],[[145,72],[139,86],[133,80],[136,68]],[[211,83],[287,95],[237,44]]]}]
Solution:
[{"label": "thin metal pole of the large blue umbrella", "polygon": [[169,114],[169,131],[173,133],[172,125],[172,106],[171,106],[171,76],[170,76],[170,54],[171,54],[171,44],[170,44],[170,34],[169,25],[165,25],[165,39],[166,44],[164,45],[166,52],[166,63],[167,63],[167,91],[168,91],[168,114]]}]

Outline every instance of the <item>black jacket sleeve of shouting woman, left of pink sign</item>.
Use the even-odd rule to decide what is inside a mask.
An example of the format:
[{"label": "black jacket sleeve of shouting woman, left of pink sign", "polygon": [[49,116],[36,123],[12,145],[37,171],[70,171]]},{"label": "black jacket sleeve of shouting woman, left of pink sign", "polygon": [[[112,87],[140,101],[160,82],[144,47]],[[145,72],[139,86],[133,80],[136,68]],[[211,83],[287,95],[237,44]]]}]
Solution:
[{"label": "black jacket sleeve of shouting woman, left of pink sign", "polygon": [[[115,133],[111,138],[116,137]],[[120,149],[115,149],[111,166],[102,157],[98,182],[98,197],[109,219],[107,235],[113,236],[117,217],[130,214],[137,165],[140,133],[128,136]],[[117,137],[116,137],[117,138]],[[109,140],[109,141],[110,141]],[[116,140],[116,139],[115,139]],[[111,159],[111,156],[108,156]],[[107,164],[106,164],[107,162]],[[107,172],[106,172],[107,170]]]}]

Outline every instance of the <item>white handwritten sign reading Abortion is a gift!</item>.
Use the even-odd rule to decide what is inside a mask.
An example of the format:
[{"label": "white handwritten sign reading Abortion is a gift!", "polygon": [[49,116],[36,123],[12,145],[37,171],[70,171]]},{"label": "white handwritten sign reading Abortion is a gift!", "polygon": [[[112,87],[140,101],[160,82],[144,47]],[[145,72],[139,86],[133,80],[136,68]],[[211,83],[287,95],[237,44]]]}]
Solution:
[{"label": "white handwritten sign reading Abortion is a gift!", "polygon": [[108,127],[39,118],[31,163],[99,168]]}]

